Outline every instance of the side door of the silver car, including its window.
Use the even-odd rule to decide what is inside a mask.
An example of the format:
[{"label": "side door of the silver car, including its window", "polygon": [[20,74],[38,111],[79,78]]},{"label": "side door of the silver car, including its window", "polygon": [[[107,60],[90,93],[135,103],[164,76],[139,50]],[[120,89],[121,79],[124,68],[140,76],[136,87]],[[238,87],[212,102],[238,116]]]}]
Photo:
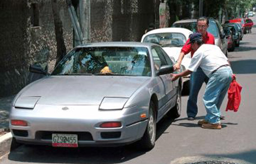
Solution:
[{"label": "side door of the silver car, including its window", "polygon": [[[159,70],[159,68],[163,65],[168,65],[166,60],[164,50],[159,46],[153,46],[152,48],[152,56],[154,62],[154,69],[155,72]],[[166,54],[167,56],[167,54]],[[172,81],[171,75],[164,74],[156,77],[160,80],[164,85],[164,93],[165,95],[159,100],[159,117],[162,117],[165,112],[168,110],[171,102],[172,97],[174,96],[174,83]]]}]

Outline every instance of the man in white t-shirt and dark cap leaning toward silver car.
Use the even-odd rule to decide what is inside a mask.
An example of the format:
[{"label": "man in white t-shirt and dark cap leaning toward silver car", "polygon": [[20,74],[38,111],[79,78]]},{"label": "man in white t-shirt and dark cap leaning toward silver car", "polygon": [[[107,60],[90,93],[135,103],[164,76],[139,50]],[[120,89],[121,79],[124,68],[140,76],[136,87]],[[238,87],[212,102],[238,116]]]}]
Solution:
[{"label": "man in white t-shirt and dark cap leaning toward silver car", "polygon": [[195,50],[188,69],[179,74],[172,74],[172,80],[197,71],[200,66],[209,81],[206,85],[203,102],[206,108],[204,120],[198,122],[203,128],[221,129],[220,107],[232,81],[232,70],[228,59],[216,45],[203,44],[202,35],[194,33],[190,36],[191,48]]}]

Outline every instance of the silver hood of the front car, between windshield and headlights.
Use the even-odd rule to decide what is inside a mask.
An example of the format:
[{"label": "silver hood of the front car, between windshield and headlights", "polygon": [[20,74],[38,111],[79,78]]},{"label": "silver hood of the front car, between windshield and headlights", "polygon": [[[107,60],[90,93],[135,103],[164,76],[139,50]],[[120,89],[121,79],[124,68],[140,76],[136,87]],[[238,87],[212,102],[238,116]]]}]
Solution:
[{"label": "silver hood of the front car, between windshield and headlights", "polygon": [[99,105],[104,97],[131,97],[149,79],[134,76],[50,76],[27,86],[18,99],[38,97],[37,104]]}]

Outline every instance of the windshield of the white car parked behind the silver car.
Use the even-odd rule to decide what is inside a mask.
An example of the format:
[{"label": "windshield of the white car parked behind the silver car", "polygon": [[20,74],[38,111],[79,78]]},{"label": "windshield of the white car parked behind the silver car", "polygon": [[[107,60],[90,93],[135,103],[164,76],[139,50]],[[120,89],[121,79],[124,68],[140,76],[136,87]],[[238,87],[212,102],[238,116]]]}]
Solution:
[{"label": "windshield of the white car parked behind the silver car", "polygon": [[181,33],[159,33],[146,36],[143,42],[156,43],[163,47],[183,46],[186,37]]}]

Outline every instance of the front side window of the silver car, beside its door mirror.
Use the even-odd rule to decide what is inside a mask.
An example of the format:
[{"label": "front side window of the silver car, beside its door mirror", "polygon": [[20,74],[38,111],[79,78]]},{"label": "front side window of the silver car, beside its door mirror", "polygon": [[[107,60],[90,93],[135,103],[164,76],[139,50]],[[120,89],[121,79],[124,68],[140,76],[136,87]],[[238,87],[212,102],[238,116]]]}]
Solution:
[{"label": "front side window of the silver car, beside its door mirror", "polygon": [[155,46],[152,48],[152,56],[153,56],[155,70],[158,71],[161,66],[167,65],[167,61],[160,47]]}]

